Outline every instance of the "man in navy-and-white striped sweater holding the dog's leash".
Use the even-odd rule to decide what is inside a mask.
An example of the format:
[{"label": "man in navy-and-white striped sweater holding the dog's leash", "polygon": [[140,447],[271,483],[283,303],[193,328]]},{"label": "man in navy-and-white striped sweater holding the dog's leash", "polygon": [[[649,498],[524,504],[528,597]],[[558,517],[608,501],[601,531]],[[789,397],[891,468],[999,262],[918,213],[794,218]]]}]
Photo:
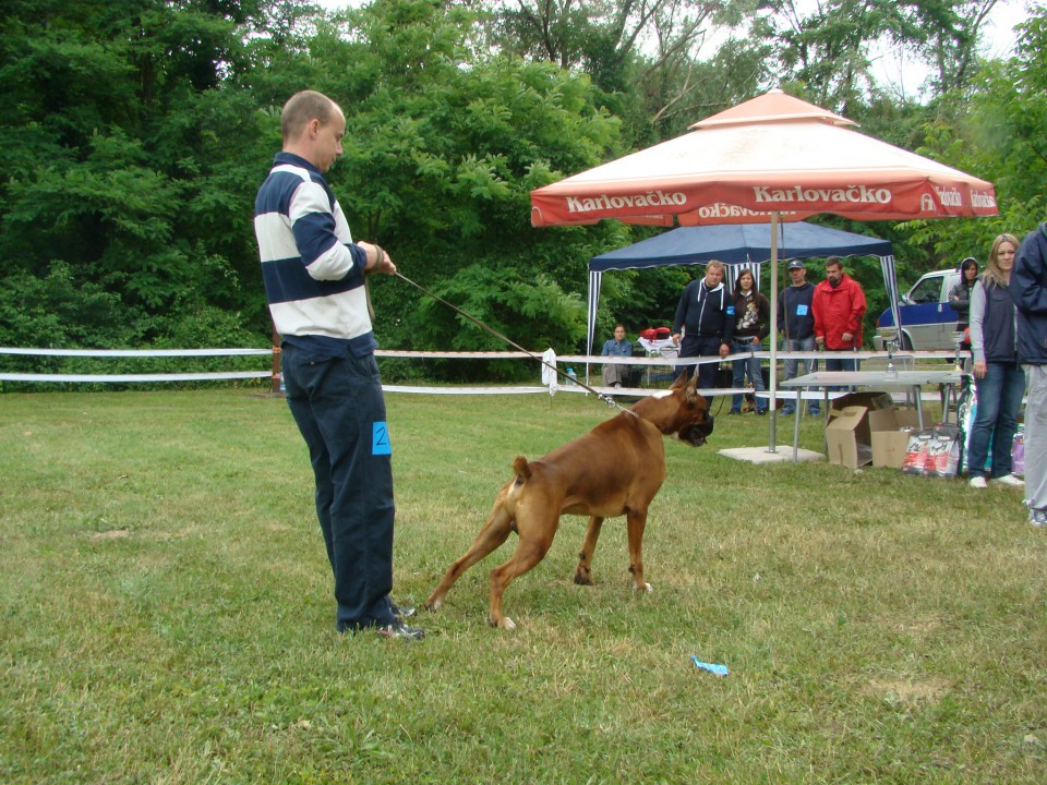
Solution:
[{"label": "man in navy-and-white striped sweater holding the dog's leash", "polygon": [[374,360],[364,277],[396,266],[354,243],[324,173],[341,155],[346,118],[321,93],[293,95],[284,149],[258,191],[254,230],[269,313],[282,336],[287,402],[309,447],[316,512],[335,578],[339,631],[417,640],[393,589],[392,447]]}]

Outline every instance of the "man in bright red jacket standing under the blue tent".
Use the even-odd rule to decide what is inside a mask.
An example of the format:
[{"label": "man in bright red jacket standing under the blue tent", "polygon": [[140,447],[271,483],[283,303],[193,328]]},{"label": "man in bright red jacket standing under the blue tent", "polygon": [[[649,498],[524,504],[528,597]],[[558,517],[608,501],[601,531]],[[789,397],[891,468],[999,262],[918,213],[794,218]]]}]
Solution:
[{"label": "man in bright red jacket standing under the blue tent", "polygon": [[[862,317],[865,292],[843,271],[843,259],[826,259],[826,280],[815,287],[810,310],[815,314],[815,342],[829,351],[856,351],[862,348]],[[826,359],[826,371],[855,371],[855,360]]]}]

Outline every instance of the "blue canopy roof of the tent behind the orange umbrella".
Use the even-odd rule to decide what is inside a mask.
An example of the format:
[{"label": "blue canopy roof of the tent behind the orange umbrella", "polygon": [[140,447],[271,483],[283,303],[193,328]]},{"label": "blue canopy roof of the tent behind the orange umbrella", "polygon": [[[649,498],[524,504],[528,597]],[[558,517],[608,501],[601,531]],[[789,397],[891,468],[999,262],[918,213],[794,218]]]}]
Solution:
[{"label": "blue canopy roof of the tent behind the orange umbrella", "polygon": [[[798,221],[779,226],[778,257],[890,256],[888,240],[854,234]],[[770,224],[681,227],[589,261],[589,269],[637,269],[671,265],[767,262],[771,258]]]}]

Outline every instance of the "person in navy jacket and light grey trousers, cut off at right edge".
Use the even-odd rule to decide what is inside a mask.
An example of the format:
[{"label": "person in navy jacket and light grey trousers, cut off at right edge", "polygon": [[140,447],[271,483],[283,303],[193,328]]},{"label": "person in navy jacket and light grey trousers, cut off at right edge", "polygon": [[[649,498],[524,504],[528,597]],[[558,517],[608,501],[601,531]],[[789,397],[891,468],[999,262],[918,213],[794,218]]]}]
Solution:
[{"label": "person in navy jacket and light grey trousers, cut off at right edge", "polygon": [[1018,359],[1025,369],[1025,506],[1047,526],[1047,224],[1022,240],[1008,287],[1018,309]]}]

